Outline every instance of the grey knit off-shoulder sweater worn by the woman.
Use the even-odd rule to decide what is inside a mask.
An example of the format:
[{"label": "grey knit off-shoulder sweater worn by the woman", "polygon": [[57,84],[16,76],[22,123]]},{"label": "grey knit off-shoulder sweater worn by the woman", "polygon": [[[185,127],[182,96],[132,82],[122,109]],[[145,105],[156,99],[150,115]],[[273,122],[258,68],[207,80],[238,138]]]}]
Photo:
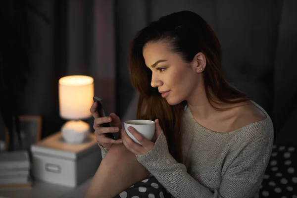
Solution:
[{"label": "grey knit off-shoulder sweater worn by the woman", "polygon": [[273,125],[254,104],[267,118],[225,134],[199,125],[187,107],[183,163],[170,155],[163,132],[154,148],[137,160],[175,198],[256,198],[272,150]]}]

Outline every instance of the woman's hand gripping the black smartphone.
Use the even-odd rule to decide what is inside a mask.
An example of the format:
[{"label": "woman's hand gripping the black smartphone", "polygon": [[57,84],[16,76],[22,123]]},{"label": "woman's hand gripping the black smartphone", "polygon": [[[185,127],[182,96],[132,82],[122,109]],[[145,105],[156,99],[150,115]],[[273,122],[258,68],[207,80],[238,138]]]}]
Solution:
[{"label": "woman's hand gripping the black smartphone", "polygon": [[[121,139],[113,140],[104,136],[104,133],[118,133],[122,128],[121,119],[115,113],[111,113],[106,117],[99,117],[97,106],[98,103],[94,102],[90,108],[90,112],[95,118],[93,128],[95,129],[94,134],[97,142],[104,148],[110,148],[113,144],[122,144]],[[103,123],[108,123],[110,121],[114,127],[101,127]]]}]

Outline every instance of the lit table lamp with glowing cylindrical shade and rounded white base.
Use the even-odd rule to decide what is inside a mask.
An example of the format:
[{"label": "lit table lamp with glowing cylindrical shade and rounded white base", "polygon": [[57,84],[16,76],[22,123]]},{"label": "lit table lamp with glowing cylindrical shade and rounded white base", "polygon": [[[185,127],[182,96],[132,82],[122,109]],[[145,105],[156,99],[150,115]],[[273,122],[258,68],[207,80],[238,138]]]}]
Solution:
[{"label": "lit table lamp with glowing cylindrical shade and rounded white base", "polygon": [[64,140],[81,144],[88,137],[90,126],[81,119],[91,117],[94,79],[90,76],[65,76],[59,79],[59,112],[67,121],[61,127]]}]

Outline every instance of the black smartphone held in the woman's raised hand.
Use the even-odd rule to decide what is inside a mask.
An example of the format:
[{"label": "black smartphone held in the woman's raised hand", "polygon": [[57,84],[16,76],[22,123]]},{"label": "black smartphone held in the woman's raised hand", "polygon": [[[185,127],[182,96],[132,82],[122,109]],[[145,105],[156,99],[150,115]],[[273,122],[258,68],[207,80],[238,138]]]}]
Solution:
[{"label": "black smartphone held in the woman's raised hand", "polygon": [[[94,102],[97,102],[98,103],[98,107],[97,107],[97,111],[99,113],[99,116],[100,117],[105,117],[105,116],[109,116],[109,113],[102,101],[102,99],[98,98],[98,97],[93,97],[93,100]],[[108,123],[103,123],[102,124],[102,127],[112,127],[113,124],[111,122],[108,122]],[[115,133],[104,133],[104,135],[107,137],[107,138],[111,138],[113,140],[117,140],[119,139],[120,137],[120,133],[119,132],[115,132]]]}]

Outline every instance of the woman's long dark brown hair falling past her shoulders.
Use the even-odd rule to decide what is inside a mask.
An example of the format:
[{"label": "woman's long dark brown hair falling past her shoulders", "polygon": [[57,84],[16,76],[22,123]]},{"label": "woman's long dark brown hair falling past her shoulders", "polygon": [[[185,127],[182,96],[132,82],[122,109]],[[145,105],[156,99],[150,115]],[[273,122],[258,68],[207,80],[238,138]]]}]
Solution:
[{"label": "woman's long dark brown hair falling past her shoulders", "polygon": [[232,87],[224,78],[221,65],[221,45],[210,28],[198,14],[180,11],[161,17],[140,30],[131,43],[130,78],[139,92],[137,118],[159,119],[171,155],[182,162],[181,121],[186,101],[170,105],[160,96],[157,88],[150,86],[152,72],[146,66],[143,48],[148,42],[166,41],[171,52],[179,53],[185,62],[191,62],[198,52],[206,57],[203,71],[205,93],[210,104],[238,103],[249,98]]}]

